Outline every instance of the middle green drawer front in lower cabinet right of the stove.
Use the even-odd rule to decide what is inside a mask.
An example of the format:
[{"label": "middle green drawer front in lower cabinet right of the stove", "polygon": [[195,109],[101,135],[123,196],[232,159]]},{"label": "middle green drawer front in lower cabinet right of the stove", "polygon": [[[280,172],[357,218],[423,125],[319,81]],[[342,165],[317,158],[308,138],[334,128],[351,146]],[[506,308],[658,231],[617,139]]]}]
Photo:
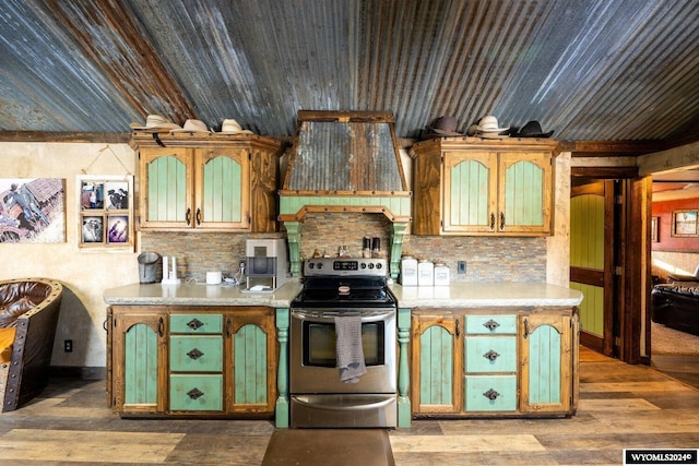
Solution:
[{"label": "middle green drawer front in lower cabinet right of the stove", "polygon": [[466,372],[514,372],[517,338],[513,336],[469,336],[464,344]]}]

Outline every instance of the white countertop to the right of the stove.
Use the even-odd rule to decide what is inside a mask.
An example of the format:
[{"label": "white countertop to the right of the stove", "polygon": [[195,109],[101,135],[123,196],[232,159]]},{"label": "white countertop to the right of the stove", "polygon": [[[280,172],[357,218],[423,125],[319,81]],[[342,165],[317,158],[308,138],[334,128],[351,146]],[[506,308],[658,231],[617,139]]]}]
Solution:
[{"label": "white countertop to the right of the stove", "polygon": [[401,308],[578,306],[582,292],[545,283],[459,283],[450,286],[392,285]]}]

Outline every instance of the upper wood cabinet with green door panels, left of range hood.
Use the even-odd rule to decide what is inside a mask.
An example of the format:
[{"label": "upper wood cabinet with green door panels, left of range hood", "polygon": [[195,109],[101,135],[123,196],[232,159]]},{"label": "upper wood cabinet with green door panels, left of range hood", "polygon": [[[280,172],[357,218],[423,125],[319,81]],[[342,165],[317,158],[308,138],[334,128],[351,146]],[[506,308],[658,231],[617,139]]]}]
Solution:
[{"label": "upper wood cabinet with green door panels, left of range hood", "polygon": [[277,230],[280,144],[261,136],[134,136],[143,230]]}]

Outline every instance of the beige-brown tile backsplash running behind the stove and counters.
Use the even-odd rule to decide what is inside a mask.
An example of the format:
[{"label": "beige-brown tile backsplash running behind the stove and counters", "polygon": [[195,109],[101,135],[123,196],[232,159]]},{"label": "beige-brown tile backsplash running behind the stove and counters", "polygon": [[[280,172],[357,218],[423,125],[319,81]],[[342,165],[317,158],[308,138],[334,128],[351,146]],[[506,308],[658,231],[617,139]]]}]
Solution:
[{"label": "beige-brown tile backsplash running behind the stove and counters", "polygon": [[[390,252],[391,223],[381,214],[308,214],[301,228],[301,255],[318,250],[335,255],[347,246],[352,256],[362,256],[365,236],[378,237],[381,251]],[[284,232],[245,235],[223,232],[141,234],[141,250],[176,256],[181,278],[203,282],[208,271],[233,275],[245,260],[247,238],[283,238]],[[545,282],[545,237],[423,237],[406,234],[403,255],[441,262],[450,268],[451,282]],[[466,273],[457,274],[457,262],[466,262]]]}]

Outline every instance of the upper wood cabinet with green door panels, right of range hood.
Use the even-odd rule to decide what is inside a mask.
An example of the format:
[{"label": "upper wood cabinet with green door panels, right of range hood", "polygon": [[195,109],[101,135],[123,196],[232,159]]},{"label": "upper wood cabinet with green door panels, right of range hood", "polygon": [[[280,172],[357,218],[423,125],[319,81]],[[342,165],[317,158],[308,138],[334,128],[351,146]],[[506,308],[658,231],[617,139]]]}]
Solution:
[{"label": "upper wood cabinet with green door panels, right of range hood", "polygon": [[556,142],[440,138],[413,146],[415,235],[552,231]]}]

